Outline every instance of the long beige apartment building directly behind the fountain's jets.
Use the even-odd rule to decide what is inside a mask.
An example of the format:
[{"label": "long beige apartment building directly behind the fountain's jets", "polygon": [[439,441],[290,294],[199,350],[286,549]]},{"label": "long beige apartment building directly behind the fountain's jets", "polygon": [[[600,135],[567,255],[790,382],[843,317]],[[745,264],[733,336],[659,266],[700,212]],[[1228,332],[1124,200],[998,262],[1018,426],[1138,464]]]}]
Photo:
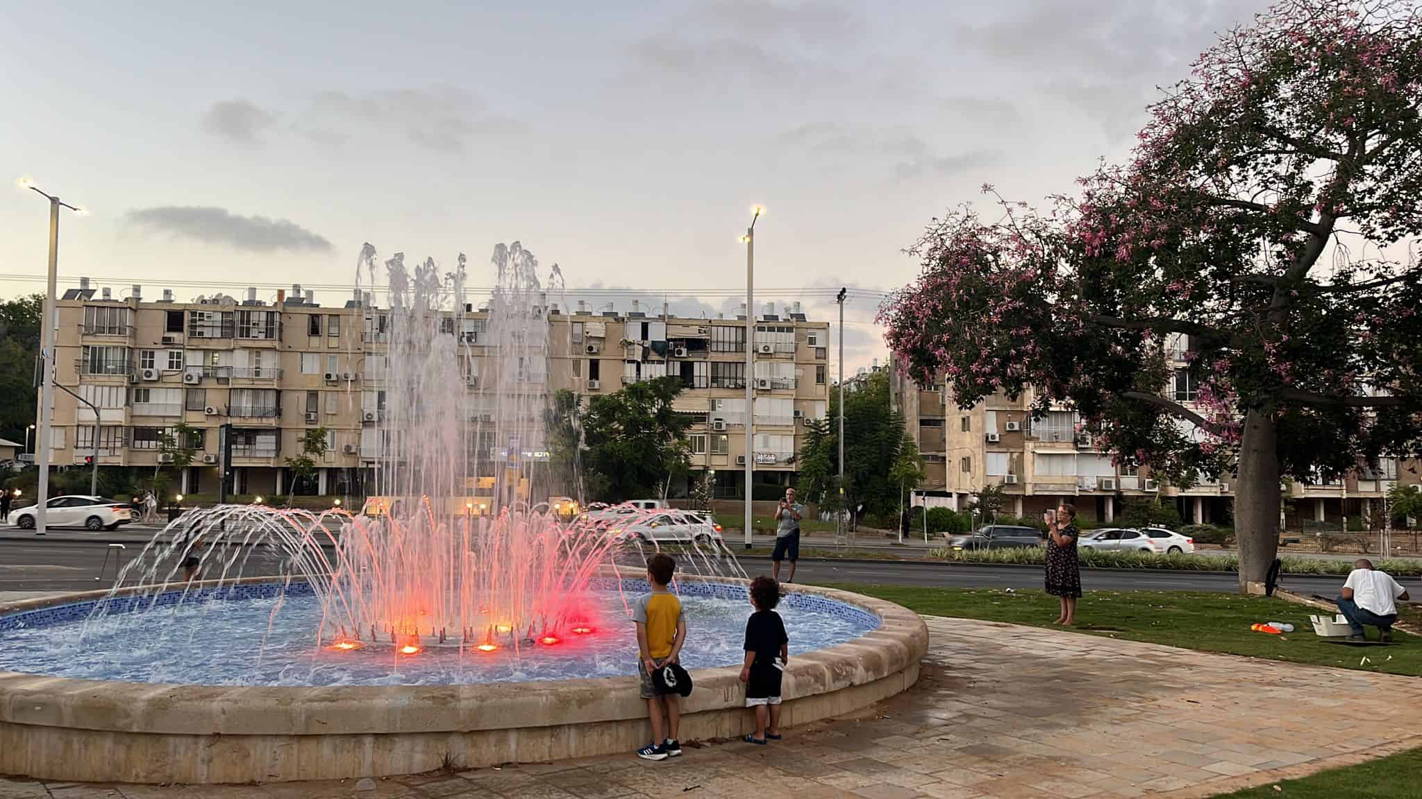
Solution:
[{"label": "long beige apartment building directly behind the fountain's jets", "polygon": [[[316,482],[300,490],[365,493],[384,417],[384,310],[368,299],[321,306],[300,286],[267,300],[255,289],[245,300],[216,294],[186,303],[166,290],[146,300],[141,286],[127,294],[95,291],[85,280],[57,303],[55,465],[87,463],[97,435],[101,465],[155,468],[164,432],[185,422],[196,431],[198,455],[178,490],[218,493],[226,473],[230,493],[280,495],[290,488],[286,458],[300,452],[309,429],[326,428]],[[498,347],[485,343],[488,314],[466,311],[458,324],[451,314],[448,333],[469,345],[472,365],[452,377],[479,395],[479,375],[493,374]],[[808,419],[828,411],[829,324],[806,320],[796,303],[785,314],[765,307],[755,328],[747,374],[744,316],[678,318],[646,313],[636,301],[621,311],[549,306],[546,370],[519,370],[519,380],[546,382],[547,394],[566,388],[592,397],[680,377],[685,390],[675,409],[691,421],[688,481],[712,472],[722,496],[744,485],[749,380],[757,483],[788,485]],[[472,401],[471,414],[483,404]]]}]

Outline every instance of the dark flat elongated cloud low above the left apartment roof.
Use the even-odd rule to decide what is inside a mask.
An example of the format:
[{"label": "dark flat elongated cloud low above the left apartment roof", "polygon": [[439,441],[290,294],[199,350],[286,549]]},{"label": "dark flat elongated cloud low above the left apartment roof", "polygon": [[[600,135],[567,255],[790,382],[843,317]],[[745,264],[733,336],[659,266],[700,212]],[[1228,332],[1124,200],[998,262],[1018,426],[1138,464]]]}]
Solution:
[{"label": "dark flat elongated cloud low above the left apartment roof", "polygon": [[294,222],[240,216],[225,208],[142,208],[124,215],[124,220],[155,233],[252,253],[331,250],[331,243],[324,236]]}]

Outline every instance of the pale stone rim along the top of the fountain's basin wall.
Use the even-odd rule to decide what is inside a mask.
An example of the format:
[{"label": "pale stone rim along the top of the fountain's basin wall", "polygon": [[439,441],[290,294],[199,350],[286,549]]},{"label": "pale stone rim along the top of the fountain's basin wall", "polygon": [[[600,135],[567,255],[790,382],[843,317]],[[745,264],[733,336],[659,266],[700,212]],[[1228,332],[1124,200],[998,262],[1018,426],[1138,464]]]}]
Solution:
[{"label": "pale stone rim along the top of the fountain's basin wall", "polygon": [[[611,570],[609,570],[611,572]],[[638,574],[616,574],[637,579]],[[687,576],[748,584],[737,577]],[[247,577],[225,584],[274,581]],[[216,586],[205,581],[203,587]],[[149,590],[134,587],[119,593]],[[897,604],[819,586],[793,586],[876,614],[880,626],[850,641],[796,655],[785,670],[788,697],[870,684],[917,664],[927,651],[923,620]],[[0,604],[0,616],[92,601],[78,591]],[[693,670],[695,691],[683,712],[744,707],[739,668]],[[559,726],[646,718],[636,677],[466,685],[225,687],[80,680],[0,671],[0,724],[162,735],[411,734]]]}]

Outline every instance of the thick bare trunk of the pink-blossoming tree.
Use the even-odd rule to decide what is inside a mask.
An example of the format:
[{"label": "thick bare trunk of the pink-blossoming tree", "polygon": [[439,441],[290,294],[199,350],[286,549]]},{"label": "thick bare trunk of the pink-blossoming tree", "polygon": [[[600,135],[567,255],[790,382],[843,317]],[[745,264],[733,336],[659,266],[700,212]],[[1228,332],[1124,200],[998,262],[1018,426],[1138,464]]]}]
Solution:
[{"label": "thick bare trunk of the pink-blossoming tree", "polygon": [[1244,415],[1239,481],[1234,485],[1234,536],[1240,547],[1240,593],[1261,591],[1278,554],[1278,431],[1261,411]]}]

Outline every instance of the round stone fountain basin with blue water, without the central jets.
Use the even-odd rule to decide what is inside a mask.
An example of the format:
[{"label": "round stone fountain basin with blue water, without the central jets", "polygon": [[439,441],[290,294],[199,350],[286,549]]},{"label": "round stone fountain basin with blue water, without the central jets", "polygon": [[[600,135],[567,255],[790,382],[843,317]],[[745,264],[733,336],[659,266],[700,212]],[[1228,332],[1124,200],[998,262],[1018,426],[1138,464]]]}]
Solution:
[{"label": "round stone fountain basin with blue water, without the central jets", "polygon": [[[215,603],[151,614],[176,628],[148,650],[138,641],[152,631],[131,616],[135,651],[114,657],[102,650],[119,638],[101,647],[104,630],[85,638],[100,650],[92,657],[65,640],[107,591],[0,606],[0,638],[27,641],[16,651],[33,653],[36,637],[53,638],[47,660],[11,654],[0,661],[0,668],[11,668],[0,671],[0,773],[92,782],[277,782],[627,752],[650,738],[647,704],[631,674],[636,644],[627,650],[631,624],[617,613],[619,583],[604,577],[593,587],[600,589],[593,601],[602,616],[593,633],[565,633],[556,645],[519,651],[509,641],[493,653],[429,647],[408,657],[378,644],[317,650],[286,636],[276,621],[257,631],[267,647],[259,645],[256,655],[249,640],[225,650],[220,637],[196,636],[195,630],[222,630],[229,611],[300,618],[301,591],[289,587],[280,601],[290,607],[273,614],[277,591],[262,579],[222,587],[226,594]],[[641,580],[621,580],[620,587],[629,600],[646,590]],[[695,681],[695,691],[683,699],[681,736],[749,732],[754,717],[738,680],[749,611],[745,580],[683,579],[680,590],[691,628],[684,663]],[[138,593],[132,596],[139,601]],[[158,603],[176,606],[181,597],[169,591],[158,594]],[[141,601],[154,596],[144,593]],[[128,608],[119,604],[119,610]],[[782,614],[791,634],[786,725],[852,712],[917,680],[927,628],[896,604],[795,586]],[[100,624],[122,624],[124,617]],[[179,655],[192,660],[156,665]],[[256,668],[255,661],[260,661]]]}]

